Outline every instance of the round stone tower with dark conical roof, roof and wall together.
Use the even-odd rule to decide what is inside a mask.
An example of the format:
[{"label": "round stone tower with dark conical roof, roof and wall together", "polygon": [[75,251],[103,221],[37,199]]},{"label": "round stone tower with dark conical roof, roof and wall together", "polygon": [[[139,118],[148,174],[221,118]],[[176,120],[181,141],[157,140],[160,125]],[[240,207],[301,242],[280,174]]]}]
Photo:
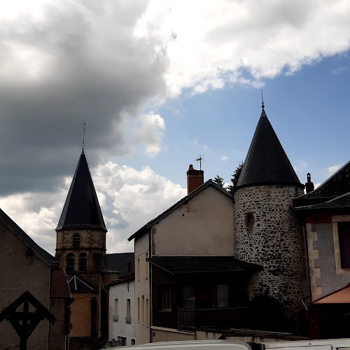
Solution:
[{"label": "round stone tower with dark conical roof, roof and wall together", "polygon": [[263,266],[248,281],[249,299],[268,293],[286,316],[300,311],[307,296],[302,225],[292,211],[303,188],[262,105],[234,193],[235,255]]}]

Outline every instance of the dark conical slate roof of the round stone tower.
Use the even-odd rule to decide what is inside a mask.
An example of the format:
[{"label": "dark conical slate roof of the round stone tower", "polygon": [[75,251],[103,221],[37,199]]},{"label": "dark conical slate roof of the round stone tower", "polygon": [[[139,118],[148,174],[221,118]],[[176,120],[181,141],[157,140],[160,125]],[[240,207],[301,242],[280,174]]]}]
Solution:
[{"label": "dark conical slate roof of the round stone tower", "polygon": [[262,109],[237,188],[264,184],[302,186]]}]

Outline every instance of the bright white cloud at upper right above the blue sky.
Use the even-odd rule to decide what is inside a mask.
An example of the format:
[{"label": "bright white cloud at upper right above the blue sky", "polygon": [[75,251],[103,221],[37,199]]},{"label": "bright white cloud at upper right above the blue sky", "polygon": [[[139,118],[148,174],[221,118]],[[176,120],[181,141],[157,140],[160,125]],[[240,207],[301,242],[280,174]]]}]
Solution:
[{"label": "bright white cloud at upper right above the blue sky", "polygon": [[[264,15],[261,15],[261,14]],[[169,93],[261,86],[350,46],[350,4],[337,1],[151,1],[139,38],[167,47]],[[335,39],[336,38],[336,39]]]}]

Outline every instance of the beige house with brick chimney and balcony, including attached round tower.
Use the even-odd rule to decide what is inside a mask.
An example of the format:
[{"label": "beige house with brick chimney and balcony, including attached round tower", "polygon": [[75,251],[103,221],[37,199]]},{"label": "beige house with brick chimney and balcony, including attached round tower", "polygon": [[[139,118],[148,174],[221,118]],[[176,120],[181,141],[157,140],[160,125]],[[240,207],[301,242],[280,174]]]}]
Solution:
[{"label": "beige house with brick chimney and balcony, including attached round tower", "polygon": [[[264,106],[233,195],[201,176],[190,166],[188,196],[130,237],[137,344],[196,339],[213,327],[294,332],[309,293],[293,212],[304,185]],[[265,319],[249,321],[258,314]]]}]

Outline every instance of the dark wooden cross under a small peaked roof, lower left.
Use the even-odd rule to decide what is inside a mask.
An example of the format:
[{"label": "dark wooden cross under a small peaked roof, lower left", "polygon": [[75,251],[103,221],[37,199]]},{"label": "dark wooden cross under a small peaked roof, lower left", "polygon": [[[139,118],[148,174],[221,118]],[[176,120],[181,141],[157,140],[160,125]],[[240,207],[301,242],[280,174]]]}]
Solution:
[{"label": "dark wooden cross under a small peaked roof, lower left", "polygon": [[[29,311],[29,305],[33,311]],[[17,311],[21,307],[22,311]],[[48,309],[46,309],[36,297],[31,295],[29,291],[25,291],[17,300],[8,305],[0,312],[0,323],[6,319],[20,337],[20,350],[27,350],[27,340],[36,326],[43,319],[47,319],[50,323],[55,324],[56,318]]]}]

